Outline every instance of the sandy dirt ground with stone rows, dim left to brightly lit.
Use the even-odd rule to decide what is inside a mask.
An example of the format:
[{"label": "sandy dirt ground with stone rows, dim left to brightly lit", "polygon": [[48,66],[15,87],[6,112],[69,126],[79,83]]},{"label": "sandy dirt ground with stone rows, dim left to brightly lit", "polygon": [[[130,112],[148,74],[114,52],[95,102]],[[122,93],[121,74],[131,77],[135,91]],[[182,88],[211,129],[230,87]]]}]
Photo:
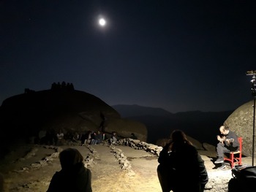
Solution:
[{"label": "sandy dirt ground with stone rows, dim left to brightly lit", "polygon": [[[16,146],[0,162],[0,172],[4,176],[4,191],[47,191],[51,177],[61,169],[59,158],[57,157],[58,152],[67,147],[77,148],[84,158],[91,153],[88,147],[79,145],[64,145],[60,147],[43,145]],[[91,147],[94,149],[94,154],[96,154],[96,158],[88,166],[91,169],[93,191],[161,192],[156,172],[158,166],[157,155],[152,155],[144,150],[135,150],[128,146],[115,146],[124,153],[131,163],[132,167],[128,171],[127,169],[121,169],[121,164],[119,164],[109,146],[91,145]],[[211,174],[223,173],[223,171],[214,169],[214,164],[211,160],[213,153],[204,153],[202,157],[205,160],[209,177],[211,177]],[[250,159],[245,158],[244,161],[249,163]],[[226,172],[231,175],[230,167],[227,166]]]}]

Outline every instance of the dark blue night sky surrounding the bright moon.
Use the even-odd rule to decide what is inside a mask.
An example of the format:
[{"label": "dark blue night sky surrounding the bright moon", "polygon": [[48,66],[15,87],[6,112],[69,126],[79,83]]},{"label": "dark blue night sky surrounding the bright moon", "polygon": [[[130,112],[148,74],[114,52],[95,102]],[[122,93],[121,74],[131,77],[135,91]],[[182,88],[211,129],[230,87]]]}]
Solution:
[{"label": "dark blue night sky surrounding the bright moon", "polygon": [[[235,110],[253,99],[255,1],[2,0],[0,104],[72,82],[109,105]],[[106,26],[98,25],[105,17]]]}]

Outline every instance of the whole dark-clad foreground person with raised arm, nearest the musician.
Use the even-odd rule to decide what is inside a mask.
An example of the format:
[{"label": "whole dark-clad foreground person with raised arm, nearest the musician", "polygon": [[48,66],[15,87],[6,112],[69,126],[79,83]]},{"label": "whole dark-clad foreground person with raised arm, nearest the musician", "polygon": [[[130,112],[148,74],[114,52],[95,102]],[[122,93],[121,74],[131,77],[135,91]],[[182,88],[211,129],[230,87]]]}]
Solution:
[{"label": "whole dark-clad foreground person with raised arm, nearest the musician", "polygon": [[203,192],[208,183],[206,166],[181,130],[174,130],[159,153],[157,175],[162,192]]}]

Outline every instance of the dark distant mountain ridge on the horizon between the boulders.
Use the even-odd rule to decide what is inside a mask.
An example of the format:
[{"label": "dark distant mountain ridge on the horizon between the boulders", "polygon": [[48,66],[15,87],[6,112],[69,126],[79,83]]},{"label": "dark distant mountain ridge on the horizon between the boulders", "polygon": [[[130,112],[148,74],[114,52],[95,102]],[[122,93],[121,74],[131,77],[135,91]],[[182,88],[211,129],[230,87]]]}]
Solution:
[{"label": "dark distant mountain ridge on the horizon between the boulders", "polygon": [[219,126],[232,114],[233,110],[223,112],[177,112],[171,113],[161,108],[139,105],[118,104],[111,106],[122,118],[137,120],[148,128],[148,142],[167,138],[173,129],[181,129],[200,142],[215,144]]}]

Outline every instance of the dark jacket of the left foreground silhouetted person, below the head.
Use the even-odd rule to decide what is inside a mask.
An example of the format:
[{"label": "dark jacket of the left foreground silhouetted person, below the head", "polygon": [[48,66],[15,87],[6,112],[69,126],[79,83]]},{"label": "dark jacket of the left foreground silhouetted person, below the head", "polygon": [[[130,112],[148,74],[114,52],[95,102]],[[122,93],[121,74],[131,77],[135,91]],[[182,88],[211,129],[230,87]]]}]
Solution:
[{"label": "dark jacket of the left foreground silhouetted person, below the head", "polygon": [[91,192],[91,170],[82,163],[70,169],[61,169],[53,175],[47,192]]}]

